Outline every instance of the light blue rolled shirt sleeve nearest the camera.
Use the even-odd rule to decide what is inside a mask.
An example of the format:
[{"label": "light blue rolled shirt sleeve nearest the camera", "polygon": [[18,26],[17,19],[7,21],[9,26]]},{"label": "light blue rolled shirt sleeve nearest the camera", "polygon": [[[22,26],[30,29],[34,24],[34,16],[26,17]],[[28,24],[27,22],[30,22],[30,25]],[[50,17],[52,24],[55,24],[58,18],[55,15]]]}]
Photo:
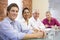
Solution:
[{"label": "light blue rolled shirt sleeve nearest the camera", "polygon": [[0,24],[0,32],[5,34],[10,39],[23,39],[25,36],[25,33],[13,29],[9,24],[6,23]]}]

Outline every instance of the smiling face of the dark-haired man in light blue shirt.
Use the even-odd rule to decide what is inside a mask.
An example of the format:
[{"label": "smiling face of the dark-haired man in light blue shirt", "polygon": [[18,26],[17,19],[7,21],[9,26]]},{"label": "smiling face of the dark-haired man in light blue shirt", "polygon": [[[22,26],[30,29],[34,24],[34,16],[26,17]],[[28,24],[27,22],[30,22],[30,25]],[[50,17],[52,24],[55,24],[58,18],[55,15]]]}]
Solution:
[{"label": "smiling face of the dark-haired man in light blue shirt", "polygon": [[11,20],[15,20],[18,15],[18,8],[17,7],[12,7],[10,11],[8,12],[8,17]]}]

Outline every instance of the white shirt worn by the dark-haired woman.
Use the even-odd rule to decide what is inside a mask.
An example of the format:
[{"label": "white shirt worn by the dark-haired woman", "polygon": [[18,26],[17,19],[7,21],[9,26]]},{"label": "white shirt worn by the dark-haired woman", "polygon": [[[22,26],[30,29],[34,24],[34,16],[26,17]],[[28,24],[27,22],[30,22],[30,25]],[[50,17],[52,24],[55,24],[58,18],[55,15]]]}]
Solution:
[{"label": "white shirt worn by the dark-haired woman", "polygon": [[31,30],[30,27],[29,27],[29,21],[27,23],[25,21],[25,19],[22,18],[21,21],[20,21],[20,24],[21,24],[22,29],[23,29],[22,31],[24,31],[24,32],[29,31],[28,33],[32,33],[33,32],[33,30]]}]

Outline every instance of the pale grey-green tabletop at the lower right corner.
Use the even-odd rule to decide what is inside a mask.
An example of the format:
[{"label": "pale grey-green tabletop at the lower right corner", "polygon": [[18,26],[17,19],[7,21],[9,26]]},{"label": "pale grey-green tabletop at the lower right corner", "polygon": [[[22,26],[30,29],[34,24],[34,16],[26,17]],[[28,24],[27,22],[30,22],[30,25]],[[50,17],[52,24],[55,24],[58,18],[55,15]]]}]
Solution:
[{"label": "pale grey-green tabletop at the lower right corner", "polygon": [[28,39],[28,40],[60,40],[60,30],[49,29],[47,37],[44,39]]}]

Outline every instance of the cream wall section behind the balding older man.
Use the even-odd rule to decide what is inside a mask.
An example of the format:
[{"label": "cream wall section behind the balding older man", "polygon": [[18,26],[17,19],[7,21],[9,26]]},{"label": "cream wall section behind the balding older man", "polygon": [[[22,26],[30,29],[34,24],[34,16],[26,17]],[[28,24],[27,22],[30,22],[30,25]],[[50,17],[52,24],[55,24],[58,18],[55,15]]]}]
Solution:
[{"label": "cream wall section behind the balding older man", "polygon": [[39,9],[41,19],[45,17],[45,12],[48,10],[48,8],[48,0],[32,0],[32,10]]}]

